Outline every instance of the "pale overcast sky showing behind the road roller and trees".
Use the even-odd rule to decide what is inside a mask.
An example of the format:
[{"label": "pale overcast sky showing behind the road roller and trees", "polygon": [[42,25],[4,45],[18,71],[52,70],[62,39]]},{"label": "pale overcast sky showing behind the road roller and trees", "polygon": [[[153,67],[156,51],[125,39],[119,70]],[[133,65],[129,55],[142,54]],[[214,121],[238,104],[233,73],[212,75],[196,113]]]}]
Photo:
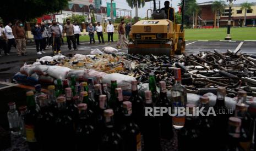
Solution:
[{"label": "pale overcast sky showing behind the road roller and trees", "polygon": [[[156,2],[157,2],[157,4],[156,4],[156,8],[158,8],[159,7],[159,5],[158,5],[158,1],[159,0],[156,0]],[[165,2],[166,0],[160,0],[160,7],[162,8],[162,7],[164,7],[164,2]],[[179,0],[178,1],[174,1],[174,0],[169,0],[170,2],[171,2],[171,4],[172,4],[172,7],[173,8],[175,8],[176,9],[176,11],[178,10],[178,7],[177,7],[177,5],[178,5],[178,3],[180,2]],[[197,0],[197,3],[203,3],[203,2],[208,2],[208,1],[214,1],[214,0]],[[243,3],[243,2],[256,2],[256,0],[236,0],[235,2],[233,2],[234,4],[237,4],[237,3]],[[106,3],[107,2],[110,2],[110,0],[102,0],[102,6],[105,6],[106,7]],[[126,0],[114,0],[114,2],[116,2],[116,8],[122,8],[122,9],[131,9],[129,6],[128,6],[128,4],[127,4],[127,2],[126,2]],[[226,1],[225,1],[226,2]],[[149,9],[150,8],[150,3],[151,2],[146,2],[146,4],[145,4],[145,7],[144,8],[140,8],[139,10],[138,10],[138,14],[139,14],[139,17],[140,18],[144,18],[145,16],[146,16],[146,10],[147,9]],[[228,2],[226,2],[227,4],[228,4]],[[170,5],[171,5],[170,4]],[[151,5],[152,6],[152,5]],[[133,11],[132,11],[132,15],[133,16],[135,16],[135,9],[132,9]],[[127,15],[128,13],[126,13],[126,15]],[[119,12],[117,11],[117,15],[119,15]],[[121,16],[124,16],[124,13],[123,12],[121,12]]]}]

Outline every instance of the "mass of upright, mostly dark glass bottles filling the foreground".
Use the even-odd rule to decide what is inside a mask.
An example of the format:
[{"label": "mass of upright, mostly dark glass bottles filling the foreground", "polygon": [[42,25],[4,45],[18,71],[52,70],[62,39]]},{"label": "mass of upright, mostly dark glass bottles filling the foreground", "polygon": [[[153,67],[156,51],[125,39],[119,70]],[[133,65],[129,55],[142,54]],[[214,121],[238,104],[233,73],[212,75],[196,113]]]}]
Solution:
[{"label": "mass of upright, mostly dark glass bottles filling the foreground", "polygon": [[[175,68],[175,84],[167,97],[166,82],[159,82],[156,90],[155,75],[149,75],[149,90],[141,97],[137,80],[132,81],[132,96],[123,101],[122,89],[116,80],[107,85],[93,78],[69,84],[57,80],[48,86],[48,94],[41,85],[26,92],[26,106],[14,102],[8,105],[10,130],[22,135],[30,150],[96,150],[135,151],[165,150],[162,140],[172,140],[177,133],[178,150],[245,150],[252,142],[253,120],[247,112],[246,92],[238,92],[235,112],[225,107],[225,88],[217,89],[213,107],[216,116],[146,115],[146,108],[186,107],[188,113],[197,108],[209,112],[209,97],[201,96],[198,107],[187,103],[187,93],[181,85],[181,69]],[[152,113],[152,112],[151,112]],[[172,110],[173,113],[173,110]],[[142,141],[142,142],[141,142]]]}]

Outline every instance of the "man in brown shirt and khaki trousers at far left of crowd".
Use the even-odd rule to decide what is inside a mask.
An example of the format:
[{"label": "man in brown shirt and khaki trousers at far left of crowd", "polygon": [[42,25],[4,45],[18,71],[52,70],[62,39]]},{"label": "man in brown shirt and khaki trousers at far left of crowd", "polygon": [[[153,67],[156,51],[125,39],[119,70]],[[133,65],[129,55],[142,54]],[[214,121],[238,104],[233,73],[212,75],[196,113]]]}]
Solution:
[{"label": "man in brown shirt and khaki trousers at far left of crowd", "polygon": [[12,27],[12,30],[16,42],[17,55],[26,56],[26,34],[22,22],[18,20],[15,26]]}]

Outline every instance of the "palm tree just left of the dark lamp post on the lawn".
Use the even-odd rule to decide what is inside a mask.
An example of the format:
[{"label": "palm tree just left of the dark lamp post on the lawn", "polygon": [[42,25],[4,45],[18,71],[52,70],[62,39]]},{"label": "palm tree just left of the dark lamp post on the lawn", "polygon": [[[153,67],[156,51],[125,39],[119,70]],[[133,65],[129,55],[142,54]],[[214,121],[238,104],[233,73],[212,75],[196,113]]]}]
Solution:
[{"label": "palm tree just left of the dark lamp post on the lawn", "polygon": [[213,5],[211,5],[211,10],[214,12],[214,28],[216,28],[216,18],[217,18],[217,26],[219,26],[219,18],[220,14],[225,9],[225,2],[224,1],[214,1]]}]

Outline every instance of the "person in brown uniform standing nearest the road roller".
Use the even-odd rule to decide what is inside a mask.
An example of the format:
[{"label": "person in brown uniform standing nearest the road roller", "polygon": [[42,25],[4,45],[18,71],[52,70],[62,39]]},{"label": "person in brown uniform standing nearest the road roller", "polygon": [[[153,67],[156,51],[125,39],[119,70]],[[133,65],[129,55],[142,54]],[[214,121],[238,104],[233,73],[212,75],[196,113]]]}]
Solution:
[{"label": "person in brown uniform standing nearest the road roller", "polygon": [[117,48],[127,48],[128,41],[126,39],[126,30],[124,29],[124,19],[121,20],[121,23],[118,25],[118,34],[119,41],[117,43]]}]

